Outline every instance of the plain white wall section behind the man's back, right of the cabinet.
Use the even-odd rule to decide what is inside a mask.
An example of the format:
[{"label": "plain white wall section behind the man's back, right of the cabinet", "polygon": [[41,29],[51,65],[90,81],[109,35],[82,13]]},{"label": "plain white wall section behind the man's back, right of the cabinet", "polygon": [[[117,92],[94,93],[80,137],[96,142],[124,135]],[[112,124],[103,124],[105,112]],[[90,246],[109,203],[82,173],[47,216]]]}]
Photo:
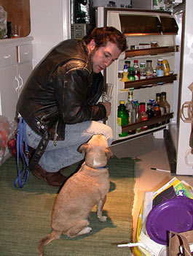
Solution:
[{"label": "plain white wall section behind the man's back, right of the cabinet", "polygon": [[33,67],[59,42],[69,38],[69,0],[30,0]]}]

